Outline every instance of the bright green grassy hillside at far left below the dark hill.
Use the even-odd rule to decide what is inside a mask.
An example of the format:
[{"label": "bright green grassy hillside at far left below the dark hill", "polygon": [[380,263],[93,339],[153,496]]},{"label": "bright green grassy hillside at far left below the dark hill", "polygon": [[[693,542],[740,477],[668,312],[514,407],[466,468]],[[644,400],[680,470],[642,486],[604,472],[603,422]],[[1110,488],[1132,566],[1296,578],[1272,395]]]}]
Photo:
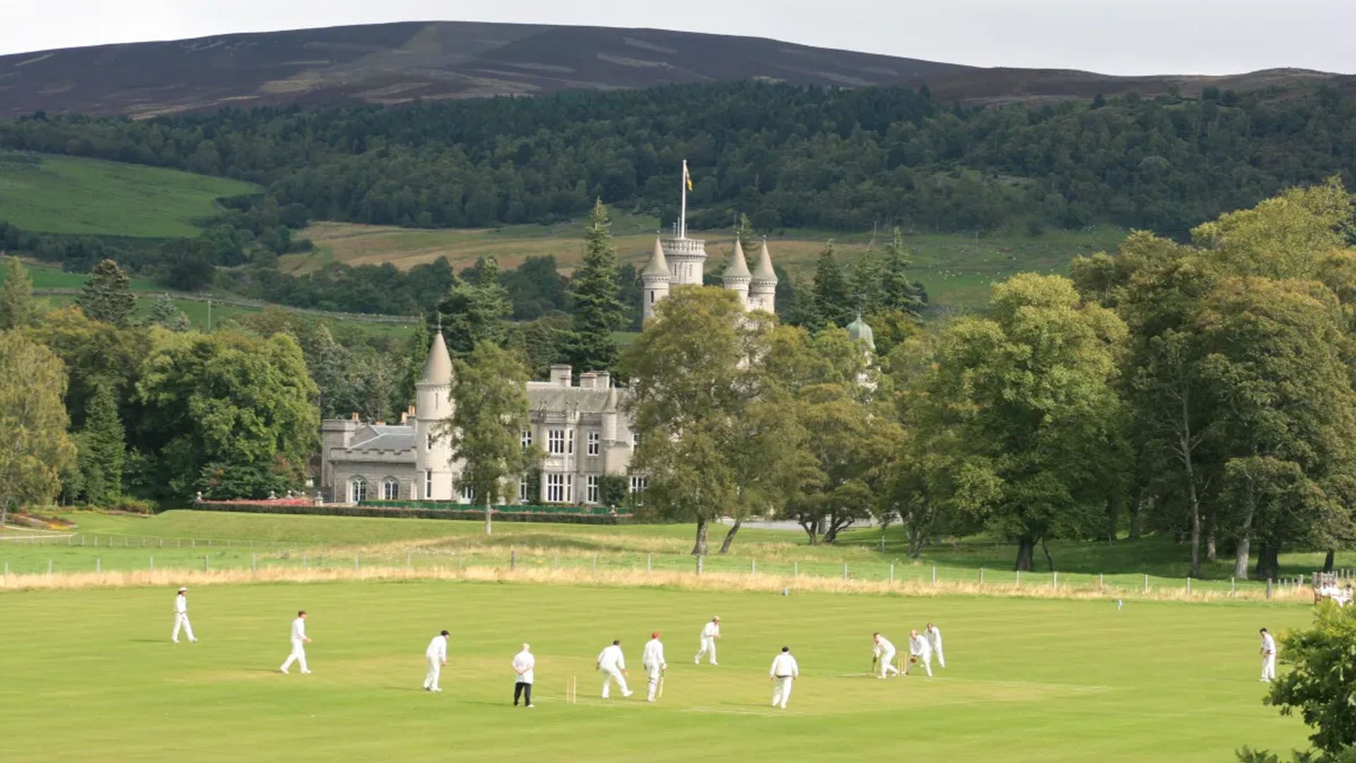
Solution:
[{"label": "bright green grassy hillside at far left below the dark hill", "polygon": [[213,200],[258,186],[176,170],[0,151],[0,220],[26,231],[195,236]]}]

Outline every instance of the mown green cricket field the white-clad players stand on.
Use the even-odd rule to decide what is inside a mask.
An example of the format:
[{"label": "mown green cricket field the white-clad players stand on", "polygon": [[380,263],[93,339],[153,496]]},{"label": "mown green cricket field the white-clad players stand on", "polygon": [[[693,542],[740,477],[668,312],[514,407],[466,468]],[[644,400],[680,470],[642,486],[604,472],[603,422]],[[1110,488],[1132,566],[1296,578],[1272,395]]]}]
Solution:
[{"label": "mown green cricket field the white-clad players stand on", "polygon": [[[1306,728],[1264,707],[1257,629],[1303,606],[681,592],[473,582],[195,585],[197,644],[170,642],[171,588],[0,593],[5,760],[1229,760]],[[277,672],[309,611],[313,675]],[[720,665],[693,665],[723,619]],[[948,668],[877,680],[871,634],[934,620]],[[452,631],[442,694],[423,649]],[[640,650],[667,644],[643,702]],[[598,698],[595,654],[622,639],[631,699]],[[538,657],[533,710],[509,661]],[[789,645],[786,710],[767,667]],[[1284,657],[1284,656],[1283,656]],[[1284,671],[1284,658],[1281,671]],[[576,705],[563,702],[578,676]]]}]

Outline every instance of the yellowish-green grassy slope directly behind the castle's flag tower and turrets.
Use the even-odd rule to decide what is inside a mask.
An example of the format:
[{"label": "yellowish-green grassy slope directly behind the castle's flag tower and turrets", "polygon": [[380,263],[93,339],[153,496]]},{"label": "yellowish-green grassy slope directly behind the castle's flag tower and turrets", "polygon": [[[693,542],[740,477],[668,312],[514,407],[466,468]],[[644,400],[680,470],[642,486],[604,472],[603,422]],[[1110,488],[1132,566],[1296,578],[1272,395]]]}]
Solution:
[{"label": "yellowish-green grassy slope directly behind the castle's flag tower and turrets", "polygon": [[[624,262],[643,265],[654,248],[658,220],[641,216],[618,216],[613,225],[617,251]],[[483,229],[410,229],[389,225],[353,223],[316,223],[301,235],[316,243],[316,251],[282,258],[283,272],[306,273],[327,262],[380,265],[389,262],[408,269],[422,262],[446,257],[453,266],[465,267],[479,257],[498,257],[500,265],[515,267],[527,257],[553,254],[568,269],[583,255],[580,223],[557,225],[509,225]],[[1013,273],[1037,270],[1062,273],[1075,254],[1115,248],[1125,232],[1115,227],[1088,231],[1050,231],[1036,236],[997,232],[984,236],[919,234],[909,235],[906,244],[914,257],[917,278],[928,286],[934,304],[975,307],[984,301],[989,286]],[[696,232],[706,239],[708,273],[719,273],[731,251],[728,231]],[[773,261],[792,276],[810,278],[815,258],[824,242],[846,261],[865,251],[871,231],[854,234],[791,231],[786,238],[769,242]],[[880,246],[877,239],[876,246]]]}]

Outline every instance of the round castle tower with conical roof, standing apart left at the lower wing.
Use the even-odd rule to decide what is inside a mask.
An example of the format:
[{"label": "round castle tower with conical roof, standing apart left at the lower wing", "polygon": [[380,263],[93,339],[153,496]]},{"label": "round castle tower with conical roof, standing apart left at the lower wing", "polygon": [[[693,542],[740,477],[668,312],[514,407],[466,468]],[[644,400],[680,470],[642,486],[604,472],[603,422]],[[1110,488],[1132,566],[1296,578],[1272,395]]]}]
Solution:
[{"label": "round castle tower with conical roof, standing apart left at the lower wing", "polygon": [[415,382],[415,496],[423,501],[450,501],[454,496],[452,445],[446,434],[438,436],[438,425],[456,410],[452,379],[452,357],[439,326]]}]

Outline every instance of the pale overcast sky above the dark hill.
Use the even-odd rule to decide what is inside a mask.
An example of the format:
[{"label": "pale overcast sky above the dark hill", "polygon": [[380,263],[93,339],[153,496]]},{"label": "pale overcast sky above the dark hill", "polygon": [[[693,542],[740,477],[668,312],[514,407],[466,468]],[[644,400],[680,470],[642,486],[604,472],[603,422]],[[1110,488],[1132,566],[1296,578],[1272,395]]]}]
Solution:
[{"label": "pale overcast sky above the dark hill", "polygon": [[1356,0],[0,0],[0,54],[400,20],[658,27],[1112,75],[1356,73]]}]

